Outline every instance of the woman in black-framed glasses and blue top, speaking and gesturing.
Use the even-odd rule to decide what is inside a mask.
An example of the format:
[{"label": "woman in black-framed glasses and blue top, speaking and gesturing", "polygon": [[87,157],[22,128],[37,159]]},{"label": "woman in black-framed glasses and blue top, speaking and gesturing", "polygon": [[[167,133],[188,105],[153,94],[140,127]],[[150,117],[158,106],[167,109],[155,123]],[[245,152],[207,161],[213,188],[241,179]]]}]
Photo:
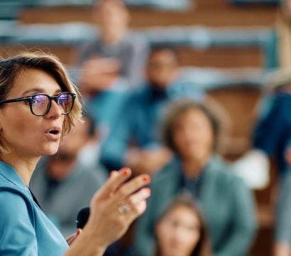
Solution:
[{"label": "woman in black-framed glasses and blue top, speaking and gesturing", "polygon": [[102,255],[146,210],[150,178],[126,182],[124,168],[95,193],[71,247],[45,217],[28,188],[33,170],[80,118],[79,92],[58,60],[36,53],[0,60],[0,255]]}]

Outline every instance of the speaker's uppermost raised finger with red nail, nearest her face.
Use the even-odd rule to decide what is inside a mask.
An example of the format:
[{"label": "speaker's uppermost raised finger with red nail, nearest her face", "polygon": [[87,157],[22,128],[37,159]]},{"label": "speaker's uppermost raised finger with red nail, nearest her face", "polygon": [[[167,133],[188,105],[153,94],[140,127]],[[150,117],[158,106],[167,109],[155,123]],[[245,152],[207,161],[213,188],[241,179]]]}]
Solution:
[{"label": "speaker's uppermost raised finger with red nail, nearest her face", "polygon": [[124,167],[120,171],[111,171],[109,179],[100,188],[100,196],[109,196],[114,193],[131,176],[131,169]]}]

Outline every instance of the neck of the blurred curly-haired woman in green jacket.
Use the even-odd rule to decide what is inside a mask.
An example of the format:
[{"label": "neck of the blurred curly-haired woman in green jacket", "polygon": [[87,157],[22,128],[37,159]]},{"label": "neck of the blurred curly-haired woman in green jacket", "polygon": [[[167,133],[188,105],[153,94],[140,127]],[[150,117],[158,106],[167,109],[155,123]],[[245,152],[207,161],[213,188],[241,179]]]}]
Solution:
[{"label": "neck of the blurred curly-haired woman in green jacket", "polygon": [[182,159],[182,169],[187,178],[196,178],[199,176],[204,167],[207,165],[210,156]]}]

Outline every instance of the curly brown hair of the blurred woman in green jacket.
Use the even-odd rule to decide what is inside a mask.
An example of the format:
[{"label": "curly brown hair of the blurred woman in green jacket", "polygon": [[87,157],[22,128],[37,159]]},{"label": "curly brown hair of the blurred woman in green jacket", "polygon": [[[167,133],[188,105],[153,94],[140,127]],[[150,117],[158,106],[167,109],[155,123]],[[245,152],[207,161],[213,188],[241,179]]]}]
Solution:
[{"label": "curly brown hair of the blurred woman in green jacket", "polygon": [[178,100],[177,102],[174,102],[172,105],[170,105],[168,113],[165,115],[165,119],[163,122],[162,129],[163,142],[176,154],[178,153],[177,148],[175,146],[175,142],[172,137],[174,124],[182,114],[188,112],[189,110],[200,110],[205,114],[207,119],[209,119],[209,122],[212,127],[212,132],[214,135],[213,151],[216,151],[219,148],[219,135],[220,135],[219,119],[216,118],[215,114],[212,113],[212,110],[210,110],[206,105],[203,105],[202,103],[198,103],[195,102],[194,100],[189,99]]}]

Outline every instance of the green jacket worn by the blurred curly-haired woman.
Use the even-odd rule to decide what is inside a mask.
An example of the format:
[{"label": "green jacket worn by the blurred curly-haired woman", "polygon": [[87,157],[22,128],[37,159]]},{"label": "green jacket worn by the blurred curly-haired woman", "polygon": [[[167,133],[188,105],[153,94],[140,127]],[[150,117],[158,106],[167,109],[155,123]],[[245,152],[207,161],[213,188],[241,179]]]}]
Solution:
[{"label": "green jacket worn by the blurred curly-haired woman", "polygon": [[134,246],[138,255],[153,255],[154,225],[165,206],[185,190],[196,199],[204,215],[214,255],[247,254],[256,231],[253,196],[219,156],[213,156],[192,181],[186,180],[180,161],[174,159],[155,175],[151,189],[146,213],[136,223]]}]

